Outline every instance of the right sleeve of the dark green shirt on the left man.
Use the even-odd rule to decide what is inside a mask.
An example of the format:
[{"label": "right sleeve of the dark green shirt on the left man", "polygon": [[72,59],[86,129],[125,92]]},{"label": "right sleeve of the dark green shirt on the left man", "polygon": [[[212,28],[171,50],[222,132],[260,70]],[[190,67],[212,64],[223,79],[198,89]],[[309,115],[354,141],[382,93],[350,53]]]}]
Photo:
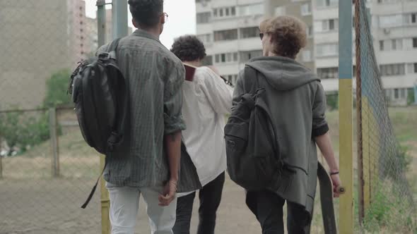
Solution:
[{"label": "right sleeve of the dark green shirt on the left man", "polygon": [[182,83],[185,78],[185,69],[182,63],[170,61],[164,86],[164,125],[165,135],[185,130],[185,123],[182,119]]}]

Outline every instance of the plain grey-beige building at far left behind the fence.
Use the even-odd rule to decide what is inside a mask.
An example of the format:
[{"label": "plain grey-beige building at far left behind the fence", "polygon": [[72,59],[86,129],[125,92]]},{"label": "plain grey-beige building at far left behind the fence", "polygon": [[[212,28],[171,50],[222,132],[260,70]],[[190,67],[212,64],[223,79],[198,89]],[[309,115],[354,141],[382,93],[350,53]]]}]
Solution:
[{"label": "plain grey-beige building at far left behind the fence", "polygon": [[0,109],[34,108],[70,65],[66,1],[0,1],[0,16]]}]

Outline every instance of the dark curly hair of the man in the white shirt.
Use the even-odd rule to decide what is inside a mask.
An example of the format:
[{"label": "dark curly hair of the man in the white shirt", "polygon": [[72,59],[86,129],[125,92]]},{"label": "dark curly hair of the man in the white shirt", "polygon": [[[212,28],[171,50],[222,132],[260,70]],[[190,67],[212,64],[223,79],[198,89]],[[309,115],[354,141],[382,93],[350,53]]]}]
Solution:
[{"label": "dark curly hair of the man in the white shirt", "polygon": [[203,42],[194,35],[185,35],[175,39],[171,52],[181,61],[195,61],[206,57]]}]

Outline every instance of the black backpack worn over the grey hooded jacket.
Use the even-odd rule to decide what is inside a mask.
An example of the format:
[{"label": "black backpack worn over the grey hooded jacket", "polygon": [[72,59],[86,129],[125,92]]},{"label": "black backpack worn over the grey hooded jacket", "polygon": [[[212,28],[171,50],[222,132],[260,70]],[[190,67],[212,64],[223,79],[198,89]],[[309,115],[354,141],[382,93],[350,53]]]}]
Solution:
[{"label": "black backpack worn over the grey hooded jacket", "polygon": [[[276,128],[264,95],[259,88],[257,70],[245,66],[246,87],[233,106],[225,125],[225,145],[230,178],[246,190],[262,190],[276,182],[283,163],[279,155]],[[249,90],[249,89],[246,89]]]}]

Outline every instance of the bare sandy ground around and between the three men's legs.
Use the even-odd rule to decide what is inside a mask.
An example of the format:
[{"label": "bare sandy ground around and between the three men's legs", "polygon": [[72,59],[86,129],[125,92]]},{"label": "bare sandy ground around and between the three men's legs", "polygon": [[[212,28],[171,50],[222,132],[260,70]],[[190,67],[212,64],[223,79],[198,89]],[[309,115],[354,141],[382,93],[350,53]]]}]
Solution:
[{"label": "bare sandy ground around and between the three men's legs", "polygon": [[[80,206],[94,180],[0,180],[0,234],[100,233],[100,192],[87,209]],[[196,233],[198,200],[194,202],[192,233]],[[135,233],[150,233],[143,201]],[[323,233],[315,218],[312,233]],[[260,233],[259,224],[245,205],[245,193],[226,180],[218,210],[216,233]]]}]

